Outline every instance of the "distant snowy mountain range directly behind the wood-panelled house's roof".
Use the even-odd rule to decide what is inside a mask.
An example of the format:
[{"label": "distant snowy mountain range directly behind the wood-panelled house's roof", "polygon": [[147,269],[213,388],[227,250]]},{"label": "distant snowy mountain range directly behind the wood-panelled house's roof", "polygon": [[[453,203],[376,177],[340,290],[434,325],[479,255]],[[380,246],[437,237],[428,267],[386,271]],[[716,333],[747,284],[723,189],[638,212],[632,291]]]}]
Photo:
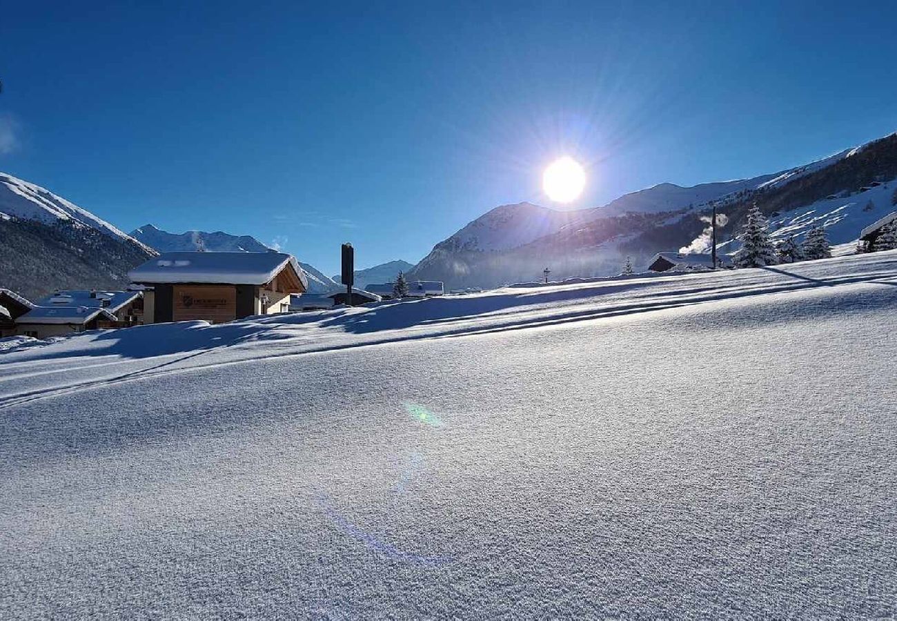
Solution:
[{"label": "distant snowy mountain range directly behind the wood-panelled house's roof", "polygon": [[[195,252],[198,249],[206,252],[267,252],[270,249],[251,235],[231,235],[222,231],[172,233],[144,224],[131,235],[159,252]],[[300,266],[309,276],[309,293],[331,293],[340,289],[339,284],[317,267],[301,261]]]}]

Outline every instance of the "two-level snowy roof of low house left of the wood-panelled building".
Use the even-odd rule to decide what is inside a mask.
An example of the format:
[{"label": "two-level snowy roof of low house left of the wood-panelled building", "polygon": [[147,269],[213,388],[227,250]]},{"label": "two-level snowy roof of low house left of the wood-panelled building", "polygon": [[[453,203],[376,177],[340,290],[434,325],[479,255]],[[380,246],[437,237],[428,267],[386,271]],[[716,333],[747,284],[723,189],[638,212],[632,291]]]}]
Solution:
[{"label": "two-level snowy roof of low house left of the wood-panelled building", "polygon": [[87,323],[98,315],[115,320],[113,313],[134,302],[139,291],[58,291],[41,298],[17,323]]}]

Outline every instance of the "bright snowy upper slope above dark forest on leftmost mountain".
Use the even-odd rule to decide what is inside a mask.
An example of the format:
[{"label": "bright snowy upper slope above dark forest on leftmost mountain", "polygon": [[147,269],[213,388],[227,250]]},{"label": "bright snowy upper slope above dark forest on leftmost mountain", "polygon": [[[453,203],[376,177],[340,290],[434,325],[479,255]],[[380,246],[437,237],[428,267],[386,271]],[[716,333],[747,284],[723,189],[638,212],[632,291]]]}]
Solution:
[{"label": "bright snowy upper slope above dark forest on leftmost mountain", "polygon": [[86,209],[74,205],[63,197],[58,197],[46,188],[17,179],[4,172],[0,172],[0,215],[25,220],[39,220],[43,223],[65,220],[91,227],[121,240],[134,241],[144,247],[125,232],[119,231],[118,228]]}]

